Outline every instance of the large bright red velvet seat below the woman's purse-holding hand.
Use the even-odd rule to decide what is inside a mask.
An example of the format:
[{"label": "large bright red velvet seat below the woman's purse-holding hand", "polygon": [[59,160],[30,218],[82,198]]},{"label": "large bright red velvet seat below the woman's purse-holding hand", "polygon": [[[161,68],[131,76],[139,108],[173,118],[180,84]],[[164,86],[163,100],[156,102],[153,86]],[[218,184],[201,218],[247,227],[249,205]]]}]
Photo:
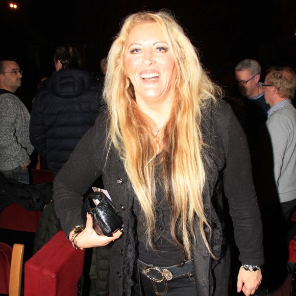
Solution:
[{"label": "large bright red velvet seat below the woman's purse-holding hand", "polygon": [[76,250],[59,231],[24,264],[24,296],[77,295],[84,250]]}]

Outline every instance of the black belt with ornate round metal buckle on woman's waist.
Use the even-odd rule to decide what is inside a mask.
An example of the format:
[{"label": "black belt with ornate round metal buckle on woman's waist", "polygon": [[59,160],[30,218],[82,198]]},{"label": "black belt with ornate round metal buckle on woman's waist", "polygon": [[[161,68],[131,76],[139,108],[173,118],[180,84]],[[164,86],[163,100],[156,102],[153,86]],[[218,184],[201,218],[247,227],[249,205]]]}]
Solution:
[{"label": "black belt with ornate round metal buckle on woman's waist", "polygon": [[138,260],[138,267],[141,274],[156,283],[161,283],[164,280],[170,281],[194,272],[193,260],[168,267],[158,267]]}]

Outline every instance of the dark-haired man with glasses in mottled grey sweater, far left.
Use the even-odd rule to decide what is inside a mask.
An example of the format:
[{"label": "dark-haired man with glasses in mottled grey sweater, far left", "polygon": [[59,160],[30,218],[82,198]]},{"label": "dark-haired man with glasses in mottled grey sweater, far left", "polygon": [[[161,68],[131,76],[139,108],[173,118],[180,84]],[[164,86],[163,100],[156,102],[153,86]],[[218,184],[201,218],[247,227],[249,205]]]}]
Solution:
[{"label": "dark-haired man with glasses in mottled grey sweater, far left", "polygon": [[8,179],[29,184],[28,165],[34,150],[29,139],[30,114],[14,94],[21,78],[15,60],[0,60],[0,172]]}]

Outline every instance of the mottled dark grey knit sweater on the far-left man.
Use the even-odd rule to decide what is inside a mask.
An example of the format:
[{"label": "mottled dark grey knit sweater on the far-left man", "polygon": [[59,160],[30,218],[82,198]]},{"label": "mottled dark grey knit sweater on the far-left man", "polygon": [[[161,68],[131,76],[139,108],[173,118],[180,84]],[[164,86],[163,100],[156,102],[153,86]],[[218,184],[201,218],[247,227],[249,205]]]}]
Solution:
[{"label": "mottled dark grey knit sweater on the far-left man", "polygon": [[34,148],[29,139],[30,114],[13,93],[0,95],[0,170],[29,161]]}]

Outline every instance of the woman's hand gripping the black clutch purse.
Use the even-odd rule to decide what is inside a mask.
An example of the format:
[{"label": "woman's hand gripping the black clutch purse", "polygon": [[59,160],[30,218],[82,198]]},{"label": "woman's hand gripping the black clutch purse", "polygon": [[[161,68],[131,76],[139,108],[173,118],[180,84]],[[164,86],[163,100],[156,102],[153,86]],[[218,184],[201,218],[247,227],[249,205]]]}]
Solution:
[{"label": "woman's hand gripping the black clutch purse", "polygon": [[117,230],[112,237],[97,235],[92,228],[92,216],[87,213],[85,229],[77,236],[77,246],[83,249],[92,248],[93,246],[104,246],[119,238],[121,234],[122,232]]}]

